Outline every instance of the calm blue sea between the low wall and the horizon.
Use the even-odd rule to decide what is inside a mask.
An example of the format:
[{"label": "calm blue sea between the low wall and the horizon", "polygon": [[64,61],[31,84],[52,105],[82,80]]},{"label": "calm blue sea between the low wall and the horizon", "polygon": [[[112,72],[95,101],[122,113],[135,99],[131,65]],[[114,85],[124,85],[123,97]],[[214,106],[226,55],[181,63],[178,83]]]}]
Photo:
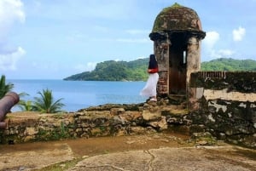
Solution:
[{"label": "calm blue sea between the low wall and the horizon", "polygon": [[[89,106],[112,104],[141,103],[146,99],[139,95],[145,82],[93,82],[93,81],[63,81],[63,80],[7,80],[13,83],[13,91],[29,96],[22,100],[33,100],[39,97],[38,92],[49,88],[55,100],[63,98],[63,110],[78,111]],[[19,111],[14,107],[12,111]]]}]

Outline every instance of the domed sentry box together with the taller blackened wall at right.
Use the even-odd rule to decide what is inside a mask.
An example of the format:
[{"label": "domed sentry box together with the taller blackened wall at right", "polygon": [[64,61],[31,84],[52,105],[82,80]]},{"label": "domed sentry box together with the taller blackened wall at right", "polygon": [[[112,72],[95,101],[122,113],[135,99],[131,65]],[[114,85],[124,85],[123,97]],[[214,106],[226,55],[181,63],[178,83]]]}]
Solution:
[{"label": "domed sentry box together with the taller blackened wall at right", "polygon": [[206,32],[195,10],[177,3],[157,15],[149,37],[160,68],[158,95],[185,97],[196,123],[190,131],[256,147],[256,72],[201,71]]}]

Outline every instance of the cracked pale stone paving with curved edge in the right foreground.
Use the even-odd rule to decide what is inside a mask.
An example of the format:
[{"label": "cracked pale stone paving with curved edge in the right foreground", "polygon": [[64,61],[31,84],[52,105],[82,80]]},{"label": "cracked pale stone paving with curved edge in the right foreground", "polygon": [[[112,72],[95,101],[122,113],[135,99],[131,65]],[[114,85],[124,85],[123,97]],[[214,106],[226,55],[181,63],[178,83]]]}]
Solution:
[{"label": "cracked pale stone paving with curved edge in the right foreground", "polygon": [[256,161],[241,155],[240,150],[223,146],[117,152],[88,157],[68,171],[256,170]]}]

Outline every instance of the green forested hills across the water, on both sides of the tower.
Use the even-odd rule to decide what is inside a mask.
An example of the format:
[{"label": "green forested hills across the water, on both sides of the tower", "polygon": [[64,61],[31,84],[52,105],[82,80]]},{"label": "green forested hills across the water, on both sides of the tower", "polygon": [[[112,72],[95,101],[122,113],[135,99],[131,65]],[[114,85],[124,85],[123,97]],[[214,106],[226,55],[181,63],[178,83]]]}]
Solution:
[{"label": "green forested hills across the water, on both sides of the tower", "polygon": [[[83,81],[145,81],[148,78],[148,58],[126,61],[108,60],[96,65],[94,71],[84,71],[64,80]],[[256,71],[255,60],[220,58],[201,63],[202,71]]]}]

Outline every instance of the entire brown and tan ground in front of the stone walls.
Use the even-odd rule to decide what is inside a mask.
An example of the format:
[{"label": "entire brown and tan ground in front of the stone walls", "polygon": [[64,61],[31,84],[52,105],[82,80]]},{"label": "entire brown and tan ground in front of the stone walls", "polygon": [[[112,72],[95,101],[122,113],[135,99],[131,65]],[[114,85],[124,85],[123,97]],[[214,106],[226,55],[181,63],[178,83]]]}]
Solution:
[{"label": "entire brown and tan ground in front of the stone walls", "polygon": [[256,151],[147,134],[0,145],[0,170],[256,170]]}]

